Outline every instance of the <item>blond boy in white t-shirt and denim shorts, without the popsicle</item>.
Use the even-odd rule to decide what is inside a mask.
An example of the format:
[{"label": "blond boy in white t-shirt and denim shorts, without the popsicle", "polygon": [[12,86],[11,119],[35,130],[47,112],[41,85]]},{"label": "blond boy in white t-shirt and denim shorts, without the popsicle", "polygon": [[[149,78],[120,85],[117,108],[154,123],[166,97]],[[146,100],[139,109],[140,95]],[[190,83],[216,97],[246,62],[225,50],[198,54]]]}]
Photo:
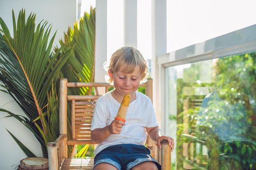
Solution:
[{"label": "blond boy in white t-shirt and denim shorts, without the popsicle", "polygon": [[[135,48],[120,48],[111,56],[108,74],[114,90],[98,99],[92,119],[91,139],[99,143],[94,151],[94,170],[161,170],[144,146],[146,136],[159,147],[161,140],[167,140],[171,151],[174,141],[160,135],[152,102],[137,91],[146,80],[145,59]],[[126,94],[130,94],[126,122],[115,120]]]}]

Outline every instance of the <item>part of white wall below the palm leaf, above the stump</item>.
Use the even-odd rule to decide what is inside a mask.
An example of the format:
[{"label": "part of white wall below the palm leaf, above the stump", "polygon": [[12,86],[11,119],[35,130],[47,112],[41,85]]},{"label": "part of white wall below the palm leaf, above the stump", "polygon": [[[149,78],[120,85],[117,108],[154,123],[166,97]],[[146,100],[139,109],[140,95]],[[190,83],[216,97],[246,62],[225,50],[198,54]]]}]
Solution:
[{"label": "part of white wall below the palm leaf, above the stump", "polygon": [[[0,108],[25,116],[14,99],[3,92],[0,92]],[[16,136],[36,156],[42,156],[42,151],[39,142],[32,132],[17,119],[4,118],[5,116],[8,116],[8,114],[0,112],[0,170],[13,170],[14,167],[12,166],[18,166],[19,161],[26,158],[26,155],[6,129]]]}]

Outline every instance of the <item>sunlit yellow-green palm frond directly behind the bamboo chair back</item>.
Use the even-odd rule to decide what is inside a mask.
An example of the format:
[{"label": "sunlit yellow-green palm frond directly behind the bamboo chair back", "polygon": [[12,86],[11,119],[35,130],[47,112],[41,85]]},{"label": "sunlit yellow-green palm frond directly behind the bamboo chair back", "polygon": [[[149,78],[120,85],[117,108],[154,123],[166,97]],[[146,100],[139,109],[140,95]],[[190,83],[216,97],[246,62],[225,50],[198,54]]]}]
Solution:
[{"label": "sunlit yellow-green palm frond directly behind the bamboo chair back", "polygon": [[[91,8],[90,14],[84,13],[79,24],[69,28],[64,34],[64,40],[59,41],[63,52],[69,46],[75,46],[72,56],[61,69],[63,77],[70,82],[93,82],[94,75],[94,47],[95,47],[95,8]],[[57,50],[58,48],[55,48]],[[80,89],[82,94],[90,93],[89,89]]]}]

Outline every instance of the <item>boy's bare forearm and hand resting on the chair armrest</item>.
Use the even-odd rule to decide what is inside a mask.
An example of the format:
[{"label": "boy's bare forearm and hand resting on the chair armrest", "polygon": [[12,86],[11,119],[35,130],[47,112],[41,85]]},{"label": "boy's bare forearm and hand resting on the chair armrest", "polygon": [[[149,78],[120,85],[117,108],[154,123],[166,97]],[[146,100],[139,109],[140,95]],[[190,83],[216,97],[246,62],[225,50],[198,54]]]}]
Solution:
[{"label": "boy's bare forearm and hand resting on the chair armrest", "polygon": [[162,140],[167,140],[169,146],[171,147],[171,152],[174,149],[174,139],[172,137],[169,136],[165,136],[165,135],[161,135],[159,127],[155,126],[155,127],[146,127],[146,132],[147,135],[150,137],[150,139],[152,139],[153,141],[155,141],[157,143],[157,146],[159,148],[162,147],[161,145],[161,141]]}]

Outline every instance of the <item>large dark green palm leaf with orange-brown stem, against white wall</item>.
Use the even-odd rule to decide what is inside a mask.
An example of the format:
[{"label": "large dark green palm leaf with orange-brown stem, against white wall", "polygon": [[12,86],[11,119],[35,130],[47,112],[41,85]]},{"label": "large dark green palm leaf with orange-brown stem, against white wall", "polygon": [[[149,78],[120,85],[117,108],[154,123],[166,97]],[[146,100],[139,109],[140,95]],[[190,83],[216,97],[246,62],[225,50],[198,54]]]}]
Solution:
[{"label": "large dark green palm leaf with orange-brown stem, against white wall", "polygon": [[[46,112],[47,95],[52,85],[56,85],[61,68],[73,52],[72,46],[69,49],[63,46],[53,54],[51,49],[55,34],[48,44],[51,27],[46,21],[36,27],[35,18],[35,14],[30,14],[26,20],[25,10],[21,10],[15,24],[13,12],[13,38],[0,18],[3,30],[3,34],[0,34],[0,81],[31,122]],[[60,53],[63,48],[66,52]],[[39,128],[37,134],[42,129],[47,135],[47,127],[40,118],[41,121],[36,122]],[[35,128],[36,124],[32,123],[31,126]],[[39,137],[43,139],[43,136]],[[43,152],[46,153],[45,143],[43,145]]]}]

